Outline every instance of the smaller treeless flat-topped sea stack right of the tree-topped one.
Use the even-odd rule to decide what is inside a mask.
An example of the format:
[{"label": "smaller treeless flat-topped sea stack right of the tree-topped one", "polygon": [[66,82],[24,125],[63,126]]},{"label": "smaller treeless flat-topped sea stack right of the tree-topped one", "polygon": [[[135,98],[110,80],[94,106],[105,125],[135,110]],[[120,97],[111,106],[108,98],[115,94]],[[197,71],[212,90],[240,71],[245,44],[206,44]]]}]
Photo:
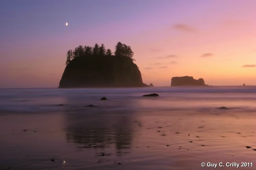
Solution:
[{"label": "smaller treeless flat-topped sea stack right of the tree-topped one", "polygon": [[203,79],[194,79],[191,76],[173,77],[171,86],[206,86]]}]

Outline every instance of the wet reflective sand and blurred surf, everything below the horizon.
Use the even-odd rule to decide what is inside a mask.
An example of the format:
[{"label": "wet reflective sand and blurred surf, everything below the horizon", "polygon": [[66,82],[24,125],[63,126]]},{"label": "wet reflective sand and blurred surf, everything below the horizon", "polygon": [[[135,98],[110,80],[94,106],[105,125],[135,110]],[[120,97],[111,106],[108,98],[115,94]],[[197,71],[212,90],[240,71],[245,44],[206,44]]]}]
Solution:
[{"label": "wet reflective sand and blurred surf, everything below the horizon", "polygon": [[0,89],[0,169],[254,169],[255,118],[256,86]]}]

